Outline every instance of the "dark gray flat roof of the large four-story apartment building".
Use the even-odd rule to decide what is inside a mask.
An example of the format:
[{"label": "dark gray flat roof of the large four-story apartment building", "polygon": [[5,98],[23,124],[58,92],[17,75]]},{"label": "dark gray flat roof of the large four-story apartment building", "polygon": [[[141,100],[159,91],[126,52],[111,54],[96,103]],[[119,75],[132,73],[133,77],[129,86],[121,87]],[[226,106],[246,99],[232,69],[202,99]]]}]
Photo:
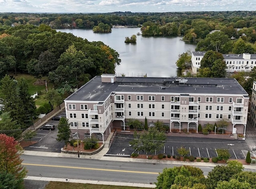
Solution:
[{"label": "dark gray flat roof of the large four-story apartment building", "polygon": [[[104,101],[116,93],[180,93],[180,94],[234,94],[248,96],[248,93],[233,78],[184,78],[188,80],[179,85],[176,78],[162,77],[116,77],[114,83],[102,83],[96,76],[83,85],[66,100]],[[178,78],[177,78],[178,79]],[[180,79],[180,78],[179,78]],[[181,81],[182,82],[182,81]]]}]

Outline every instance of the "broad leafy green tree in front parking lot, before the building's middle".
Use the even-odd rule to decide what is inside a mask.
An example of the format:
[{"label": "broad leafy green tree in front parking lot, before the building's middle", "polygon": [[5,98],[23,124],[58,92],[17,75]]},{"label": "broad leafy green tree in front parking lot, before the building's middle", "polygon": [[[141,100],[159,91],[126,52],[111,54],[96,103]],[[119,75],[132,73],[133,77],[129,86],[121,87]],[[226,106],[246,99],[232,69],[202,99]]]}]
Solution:
[{"label": "broad leafy green tree in front parking lot, before the building's middle", "polygon": [[165,143],[166,136],[163,132],[158,132],[155,128],[150,128],[148,131],[137,134],[134,133],[134,140],[129,142],[134,150],[148,152],[159,151]]}]

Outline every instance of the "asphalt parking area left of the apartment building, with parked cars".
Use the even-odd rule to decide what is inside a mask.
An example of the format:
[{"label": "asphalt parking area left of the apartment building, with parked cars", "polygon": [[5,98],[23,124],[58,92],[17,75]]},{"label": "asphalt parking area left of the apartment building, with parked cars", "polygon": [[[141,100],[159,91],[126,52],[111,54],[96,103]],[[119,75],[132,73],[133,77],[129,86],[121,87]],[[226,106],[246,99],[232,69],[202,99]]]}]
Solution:
[{"label": "asphalt parking area left of the apartment building, with parked cars", "polygon": [[[62,113],[64,115],[65,112]],[[48,121],[46,124],[54,124],[55,130],[40,130],[36,131],[36,136],[32,141],[37,141],[36,144],[25,147],[24,150],[34,150],[41,152],[61,152],[60,149],[65,145],[64,142],[58,142],[56,140],[58,134],[59,121]]]}]

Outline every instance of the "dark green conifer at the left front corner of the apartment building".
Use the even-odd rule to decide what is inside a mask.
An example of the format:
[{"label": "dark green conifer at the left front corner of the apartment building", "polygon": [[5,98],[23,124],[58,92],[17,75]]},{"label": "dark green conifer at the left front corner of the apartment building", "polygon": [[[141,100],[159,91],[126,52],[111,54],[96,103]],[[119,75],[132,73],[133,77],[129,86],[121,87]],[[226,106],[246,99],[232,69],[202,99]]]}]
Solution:
[{"label": "dark green conifer at the left front corner of the apartment building", "polygon": [[71,130],[70,130],[70,123],[68,119],[62,117],[60,118],[60,122],[58,124],[58,134],[56,140],[58,142],[65,142],[65,146],[67,148],[67,144],[70,138]]}]

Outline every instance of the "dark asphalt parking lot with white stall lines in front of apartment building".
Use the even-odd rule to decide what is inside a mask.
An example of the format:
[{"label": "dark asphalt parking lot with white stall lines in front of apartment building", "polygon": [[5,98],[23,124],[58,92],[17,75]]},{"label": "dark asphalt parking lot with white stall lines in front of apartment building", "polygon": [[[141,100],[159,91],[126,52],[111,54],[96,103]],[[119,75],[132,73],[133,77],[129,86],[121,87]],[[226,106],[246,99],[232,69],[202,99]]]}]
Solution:
[{"label": "dark asphalt parking lot with white stall lines in front of apartment building", "polygon": [[[134,152],[134,149],[129,146],[129,141],[132,139],[133,135],[117,134],[106,155],[130,157]],[[181,146],[189,150],[188,156],[204,158],[217,157],[216,149],[227,149],[231,159],[245,159],[246,150],[249,150],[244,140],[168,136],[164,148],[153,154],[164,153],[177,156],[177,150]],[[144,152],[139,153],[145,154]]]}]

